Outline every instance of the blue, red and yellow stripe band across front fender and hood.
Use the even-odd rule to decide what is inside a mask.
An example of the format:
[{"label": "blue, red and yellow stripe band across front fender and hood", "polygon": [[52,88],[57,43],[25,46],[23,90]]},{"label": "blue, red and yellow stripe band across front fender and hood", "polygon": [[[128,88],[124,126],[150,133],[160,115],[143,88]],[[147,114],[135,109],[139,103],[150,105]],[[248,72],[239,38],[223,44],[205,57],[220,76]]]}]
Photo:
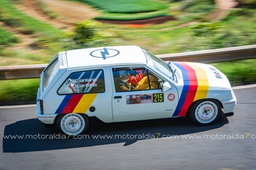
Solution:
[{"label": "blue, red and yellow stripe band across front fender and hood", "polygon": [[181,70],[184,85],[172,117],[185,116],[194,101],[206,98],[209,81],[206,72],[196,63],[173,62],[173,64]]}]

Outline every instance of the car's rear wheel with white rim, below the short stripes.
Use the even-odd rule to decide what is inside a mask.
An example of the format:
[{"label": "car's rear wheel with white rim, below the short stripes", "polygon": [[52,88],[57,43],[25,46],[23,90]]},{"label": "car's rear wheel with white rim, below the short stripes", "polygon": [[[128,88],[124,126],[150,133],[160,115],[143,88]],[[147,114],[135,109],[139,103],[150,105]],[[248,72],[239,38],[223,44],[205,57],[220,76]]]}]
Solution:
[{"label": "car's rear wheel with white rim, below the short stripes", "polygon": [[66,136],[85,133],[88,130],[89,120],[84,114],[63,114],[56,121],[58,130]]}]

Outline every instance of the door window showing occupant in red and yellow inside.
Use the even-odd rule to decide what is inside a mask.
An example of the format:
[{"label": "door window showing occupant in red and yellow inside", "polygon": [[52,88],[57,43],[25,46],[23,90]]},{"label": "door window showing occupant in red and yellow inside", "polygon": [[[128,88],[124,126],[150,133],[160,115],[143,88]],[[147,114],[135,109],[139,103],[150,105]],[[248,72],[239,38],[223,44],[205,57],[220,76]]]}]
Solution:
[{"label": "door window showing occupant in red and yellow inside", "polygon": [[116,92],[161,89],[158,76],[146,68],[113,68]]}]

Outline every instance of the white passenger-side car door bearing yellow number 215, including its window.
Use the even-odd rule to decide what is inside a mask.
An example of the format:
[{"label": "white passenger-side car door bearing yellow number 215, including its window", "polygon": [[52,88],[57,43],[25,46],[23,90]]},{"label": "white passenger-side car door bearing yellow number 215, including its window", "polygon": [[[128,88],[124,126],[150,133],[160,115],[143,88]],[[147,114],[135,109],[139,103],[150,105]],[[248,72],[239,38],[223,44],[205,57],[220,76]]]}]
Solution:
[{"label": "white passenger-side car door bearing yellow number 215, including its window", "polygon": [[171,117],[178,105],[174,85],[162,91],[163,78],[145,66],[112,67],[114,121]]}]

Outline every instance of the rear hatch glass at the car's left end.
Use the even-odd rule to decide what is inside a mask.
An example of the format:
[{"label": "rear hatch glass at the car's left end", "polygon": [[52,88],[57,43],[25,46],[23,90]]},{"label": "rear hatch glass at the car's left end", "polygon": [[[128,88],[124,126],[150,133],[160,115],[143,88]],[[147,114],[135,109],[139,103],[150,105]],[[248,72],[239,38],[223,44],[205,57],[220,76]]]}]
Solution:
[{"label": "rear hatch glass at the car's left end", "polygon": [[47,67],[47,69],[45,70],[45,73],[43,73],[43,91],[46,89],[46,87],[50,84],[52,79],[55,77],[58,69],[59,69],[58,59],[53,61],[53,63]]}]

